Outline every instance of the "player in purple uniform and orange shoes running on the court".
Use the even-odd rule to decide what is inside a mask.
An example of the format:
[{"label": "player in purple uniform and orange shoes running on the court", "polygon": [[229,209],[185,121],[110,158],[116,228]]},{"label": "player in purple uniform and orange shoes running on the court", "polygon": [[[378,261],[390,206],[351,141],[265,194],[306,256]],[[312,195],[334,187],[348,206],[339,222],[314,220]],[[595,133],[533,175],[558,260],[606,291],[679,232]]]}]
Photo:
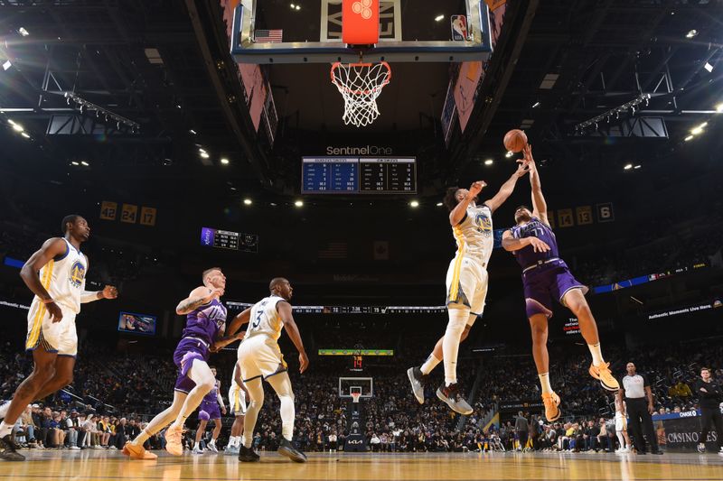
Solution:
[{"label": "player in purple uniform and orange shoes running on the court", "polygon": [[165,431],[165,449],[174,456],[183,454],[183,424],[216,383],[211,368],[206,364],[209,354],[243,338],[245,334],[240,332],[236,335],[240,321],[234,319],[228,329],[229,335],[221,338],[226,327],[226,308],[219,299],[225,289],[226,276],[221,268],[211,267],[203,272],[203,285],[178,303],[176,313],[179,316],[186,314],[187,317],[186,327],[174,351],[174,364],[179,370],[174,402],[171,407],[156,415],[136,439],[126,443],[123,454],[133,459],[157,458],[143,448],[143,443],[171,421],[174,421],[173,424]]}]

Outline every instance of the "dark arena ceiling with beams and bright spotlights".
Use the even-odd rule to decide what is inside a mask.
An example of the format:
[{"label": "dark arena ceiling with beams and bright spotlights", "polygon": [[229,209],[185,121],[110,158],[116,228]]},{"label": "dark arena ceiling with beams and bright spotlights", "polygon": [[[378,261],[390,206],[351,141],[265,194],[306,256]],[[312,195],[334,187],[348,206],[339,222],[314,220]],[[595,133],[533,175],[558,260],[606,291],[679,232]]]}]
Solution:
[{"label": "dark arena ceiling with beams and bright spotlights", "polygon": [[[527,131],[550,165],[595,159],[576,166],[599,168],[604,155],[619,170],[643,153],[680,154],[696,125],[708,122],[708,132],[719,126],[719,1],[509,4],[507,30],[464,134],[454,134],[448,148],[441,140],[449,67],[428,64],[398,66],[398,88],[380,105],[392,114],[364,137],[409,139],[424,158],[423,194],[438,196],[487,159],[503,162],[500,139],[513,127]],[[272,149],[259,138],[239,101],[221,9],[213,3],[0,0],[0,32],[0,60],[8,65],[0,70],[0,136],[5,165],[15,172],[37,169],[30,157],[56,177],[96,186],[132,181],[139,191],[173,194],[179,181],[196,180],[230,198],[249,189],[293,194],[305,139],[345,133],[338,93],[324,89],[321,67],[276,65],[269,73],[279,104],[277,141]],[[427,72],[424,81],[420,72]],[[77,96],[70,104],[66,92]],[[597,128],[576,128],[641,96],[650,98],[634,113],[621,109],[609,125],[604,117]],[[99,106],[101,115],[88,105],[80,111],[77,98]],[[708,135],[705,142],[719,148],[721,140]],[[509,173],[484,172],[490,180]]]}]

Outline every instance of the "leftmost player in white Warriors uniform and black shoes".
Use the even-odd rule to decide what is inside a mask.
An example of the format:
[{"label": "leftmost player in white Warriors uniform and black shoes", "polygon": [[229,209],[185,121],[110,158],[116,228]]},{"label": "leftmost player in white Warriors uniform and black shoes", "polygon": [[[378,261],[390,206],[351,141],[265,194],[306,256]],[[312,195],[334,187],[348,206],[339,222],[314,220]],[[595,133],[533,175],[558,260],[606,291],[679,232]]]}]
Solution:
[{"label": "leftmost player in white Warriors uniform and black shoes", "polygon": [[80,304],[115,299],[117,290],[86,291],[88,257],[80,244],[90,236],[86,219],[66,216],[62,219],[63,237],[46,240],[39,251],[23,265],[20,276],[35,297],[28,312],[25,349],[33,352],[33,373],[15,390],[13,401],[0,406],[0,459],[22,461],[23,455],[11,440],[15,421],[29,402],[55,393],[73,380],[78,335],[75,316]]}]

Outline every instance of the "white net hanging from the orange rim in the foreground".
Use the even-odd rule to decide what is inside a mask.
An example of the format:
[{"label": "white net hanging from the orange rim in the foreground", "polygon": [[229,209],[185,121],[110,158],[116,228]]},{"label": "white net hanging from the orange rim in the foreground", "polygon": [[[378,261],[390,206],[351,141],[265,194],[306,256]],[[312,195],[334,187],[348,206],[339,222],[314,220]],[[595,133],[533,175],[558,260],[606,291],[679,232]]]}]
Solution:
[{"label": "white net hanging from the orange rim in the foreground", "polygon": [[390,83],[390,64],[336,62],[332,65],[332,83],[344,98],[344,124],[363,127],[379,116],[377,97]]}]

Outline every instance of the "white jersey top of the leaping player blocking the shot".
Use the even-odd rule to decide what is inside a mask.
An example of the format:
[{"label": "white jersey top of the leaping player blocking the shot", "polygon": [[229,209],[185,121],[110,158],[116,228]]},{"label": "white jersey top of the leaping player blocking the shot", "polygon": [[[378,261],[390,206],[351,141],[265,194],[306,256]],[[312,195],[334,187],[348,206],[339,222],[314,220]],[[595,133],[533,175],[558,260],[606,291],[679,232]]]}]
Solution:
[{"label": "white jersey top of the leaping player blocking the shot", "polygon": [[467,206],[465,218],[452,227],[452,232],[457,241],[456,255],[464,255],[486,266],[494,247],[492,210],[484,204]]}]

